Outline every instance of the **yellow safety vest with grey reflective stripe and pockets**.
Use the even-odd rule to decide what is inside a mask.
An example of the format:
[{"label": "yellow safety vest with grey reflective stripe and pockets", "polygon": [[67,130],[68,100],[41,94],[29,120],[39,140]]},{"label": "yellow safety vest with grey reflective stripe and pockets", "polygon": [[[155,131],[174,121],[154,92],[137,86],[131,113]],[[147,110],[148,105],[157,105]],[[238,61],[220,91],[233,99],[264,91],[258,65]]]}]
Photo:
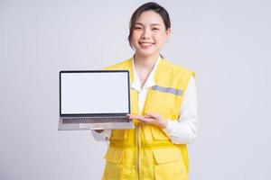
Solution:
[{"label": "yellow safety vest with grey reflective stripe and pockets", "polygon": [[[134,80],[132,58],[105,69],[130,71]],[[158,112],[163,118],[177,120],[183,95],[194,73],[162,58],[154,72],[152,86],[141,113]],[[131,112],[140,114],[138,94],[131,94]],[[112,130],[103,179],[161,179],[187,180],[189,159],[185,144],[176,145],[161,128],[134,120],[135,130]]]}]

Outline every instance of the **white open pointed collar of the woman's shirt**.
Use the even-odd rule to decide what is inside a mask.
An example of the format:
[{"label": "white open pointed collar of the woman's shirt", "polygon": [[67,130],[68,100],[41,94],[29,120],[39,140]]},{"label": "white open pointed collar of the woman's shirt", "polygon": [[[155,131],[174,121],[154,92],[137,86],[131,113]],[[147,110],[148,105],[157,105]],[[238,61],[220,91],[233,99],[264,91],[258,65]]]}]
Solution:
[{"label": "white open pointed collar of the woman's shirt", "polygon": [[151,86],[156,85],[156,83],[154,81],[154,73],[155,73],[155,70],[156,70],[160,60],[161,60],[161,57],[159,56],[158,59],[155,62],[155,65],[154,65],[154,68],[153,68],[152,72],[150,73],[150,75],[147,77],[147,79],[145,81],[145,85],[141,88],[141,82],[140,82],[139,77],[137,76],[137,74],[135,72],[135,58],[133,57],[134,81],[133,81],[131,87],[133,89],[135,89],[137,92],[140,92],[140,91],[142,91],[144,89],[147,89],[147,88],[149,88]]}]

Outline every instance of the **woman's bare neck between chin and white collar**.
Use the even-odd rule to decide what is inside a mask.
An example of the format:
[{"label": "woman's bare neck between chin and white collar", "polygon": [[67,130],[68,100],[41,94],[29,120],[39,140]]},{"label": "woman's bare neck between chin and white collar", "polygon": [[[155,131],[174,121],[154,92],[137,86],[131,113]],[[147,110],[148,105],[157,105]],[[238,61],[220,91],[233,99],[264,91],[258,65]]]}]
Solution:
[{"label": "woman's bare neck between chin and white collar", "polygon": [[144,67],[147,69],[153,69],[158,57],[159,57],[159,54],[155,54],[153,56],[141,56],[135,53],[135,57],[134,57],[135,66]]}]

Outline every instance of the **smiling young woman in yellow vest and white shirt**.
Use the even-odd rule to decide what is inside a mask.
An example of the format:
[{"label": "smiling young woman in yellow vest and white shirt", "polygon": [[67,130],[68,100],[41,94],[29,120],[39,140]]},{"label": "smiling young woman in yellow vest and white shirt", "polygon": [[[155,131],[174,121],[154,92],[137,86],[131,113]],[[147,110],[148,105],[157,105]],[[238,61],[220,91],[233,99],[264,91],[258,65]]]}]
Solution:
[{"label": "smiling young woman in yellow vest and white shirt", "polygon": [[109,141],[103,179],[188,179],[186,144],[197,131],[194,73],[160,54],[170,34],[164,7],[141,5],[130,20],[133,58],[106,68],[130,71],[135,130],[93,131]]}]

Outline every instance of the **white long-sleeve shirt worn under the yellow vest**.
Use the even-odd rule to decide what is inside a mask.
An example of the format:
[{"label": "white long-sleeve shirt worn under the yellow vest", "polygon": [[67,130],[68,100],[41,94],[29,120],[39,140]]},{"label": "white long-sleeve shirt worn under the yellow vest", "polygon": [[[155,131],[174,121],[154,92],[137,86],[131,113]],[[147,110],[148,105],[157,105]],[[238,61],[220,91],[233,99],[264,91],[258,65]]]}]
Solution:
[{"label": "white long-sleeve shirt worn under the yellow vest", "polygon": [[[135,72],[135,62],[133,59],[134,81],[131,88],[138,92],[139,111],[142,112],[146,95],[152,86],[156,85],[154,81],[154,73],[161,58],[156,60],[154,68],[145,81],[145,85],[141,88],[141,82]],[[174,144],[188,144],[196,138],[197,133],[197,94],[195,79],[192,76],[187,86],[186,92],[183,97],[182,107],[177,121],[166,120],[167,126],[164,132],[171,139]],[[103,130],[98,133],[91,130],[94,139],[98,141],[108,141],[111,136],[111,130]]]}]

